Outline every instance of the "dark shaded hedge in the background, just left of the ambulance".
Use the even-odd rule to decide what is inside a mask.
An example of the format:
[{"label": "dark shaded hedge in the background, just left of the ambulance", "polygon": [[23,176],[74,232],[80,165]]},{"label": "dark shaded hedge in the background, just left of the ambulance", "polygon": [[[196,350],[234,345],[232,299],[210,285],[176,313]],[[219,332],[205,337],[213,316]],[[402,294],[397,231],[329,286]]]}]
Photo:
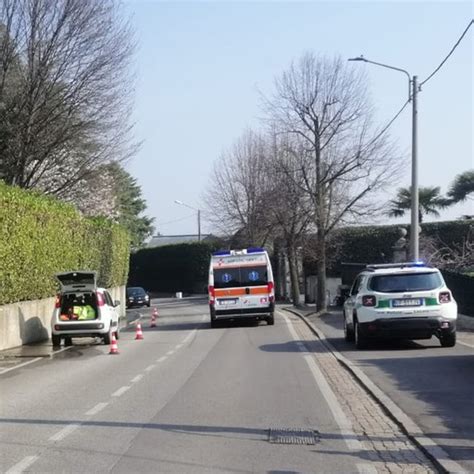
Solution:
[{"label": "dark shaded hedge in the background, just left of the ambulance", "polygon": [[128,286],[157,293],[204,291],[210,255],[217,249],[216,243],[198,242],[138,250],[130,257]]}]

